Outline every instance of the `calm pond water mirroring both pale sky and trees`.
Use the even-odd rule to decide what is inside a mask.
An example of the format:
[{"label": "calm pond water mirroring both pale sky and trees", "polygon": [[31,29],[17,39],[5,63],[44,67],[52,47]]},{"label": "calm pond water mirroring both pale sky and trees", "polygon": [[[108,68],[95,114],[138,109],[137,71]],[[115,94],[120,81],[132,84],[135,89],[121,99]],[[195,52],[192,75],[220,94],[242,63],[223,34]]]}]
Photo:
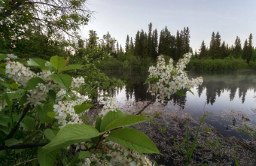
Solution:
[{"label": "calm pond water mirroring both pale sky and trees", "polygon": [[[125,80],[126,86],[117,89],[112,95],[117,97],[119,103],[127,101],[150,101],[151,94],[147,93],[148,86],[143,85],[148,77],[148,72],[105,72],[108,77]],[[221,130],[227,130],[227,125],[233,125],[233,118],[242,120],[242,114],[256,124],[256,71],[190,71],[188,77],[203,77],[201,86],[191,89],[194,92],[185,92],[186,96],[172,95],[172,104],[168,110],[181,110],[190,113],[194,118],[203,115],[203,108],[211,112],[206,120],[210,125]],[[241,117],[240,117],[241,116]],[[234,130],[227,133],[236,135]]]}]

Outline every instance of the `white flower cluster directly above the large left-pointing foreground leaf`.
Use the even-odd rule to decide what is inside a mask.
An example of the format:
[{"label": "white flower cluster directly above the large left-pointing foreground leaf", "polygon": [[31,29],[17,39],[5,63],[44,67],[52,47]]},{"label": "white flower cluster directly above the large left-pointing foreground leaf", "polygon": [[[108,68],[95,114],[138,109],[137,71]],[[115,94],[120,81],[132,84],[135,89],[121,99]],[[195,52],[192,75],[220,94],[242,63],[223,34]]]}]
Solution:
[{"label": "white flower cluster directly above the large left-pointing foreground leaf", "polygon": [[83,104],[84,101],[84,98],[78,98],[76,101],[59,101],[58,104],[53,105],[53,111],[56,113],[55,119],[58,119],[59,124],[61,124],[59,128],[67,124],[82,122],[80,119],[81,115],[75,113],[74,106]]}]

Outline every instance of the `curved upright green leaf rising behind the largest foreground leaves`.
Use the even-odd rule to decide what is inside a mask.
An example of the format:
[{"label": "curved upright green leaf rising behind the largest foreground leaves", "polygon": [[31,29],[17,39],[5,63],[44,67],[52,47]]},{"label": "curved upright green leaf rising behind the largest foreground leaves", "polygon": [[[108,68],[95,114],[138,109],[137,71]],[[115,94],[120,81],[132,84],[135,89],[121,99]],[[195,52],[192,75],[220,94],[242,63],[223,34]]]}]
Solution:
[{"label": "curved upright green leaf rising behind the largest foreground leaves", "polygon": [[100,131],[105,131],[105,128],[107,127],[107,125],[109,123],[111,123],[112,121],[114,121],[115,119],[117,118],[120,118],[121,116],[125,116],[126,113],[123,113],[122,111],[120,110],[116,110],[117,112],[115,111],[110,111],[108,112],[102,119],[102,123],[100,125]]}]

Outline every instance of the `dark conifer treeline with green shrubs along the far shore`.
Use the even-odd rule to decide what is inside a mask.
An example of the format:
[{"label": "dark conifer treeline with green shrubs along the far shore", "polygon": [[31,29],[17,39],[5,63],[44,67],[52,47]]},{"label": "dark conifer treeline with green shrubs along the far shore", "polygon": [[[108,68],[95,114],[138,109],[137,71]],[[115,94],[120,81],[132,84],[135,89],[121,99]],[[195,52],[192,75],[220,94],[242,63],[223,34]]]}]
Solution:
[{"label": "dark conifer treeline with green shrubs along the far shore", "polygon": [[[109,33],[107,34],[110,37]],[[126,36],[125,46],[122,47],[114,38],[111,46],[111,59],[106,60],[102,69],[147,69],[149,65],[156,62],[157,56],[164,55],[166,60],[172,58],[175,62],[184,53],[192,53],[193,57],[187,69],[194,70],[227,70],[255,68],[256,50],[252,46],[252,35],[245,40],[243,47],[238,36],[234,44],[228,45],[221,41],[219,32],[212,32],[209,47],[203,41],[200,50],[193,51],[190,47],[190,30],[184,27],[177,31],[175,35],[165,27],[158,33],[152,28],[152,23],[148,25],[148,32],[143,29],[136,33],[135,40],[129,35]],[[106,42],[107,43],[107,42]],[[224,61],[221,61],[224,59]],[[203,64],[203,65],[202,65]]]}]

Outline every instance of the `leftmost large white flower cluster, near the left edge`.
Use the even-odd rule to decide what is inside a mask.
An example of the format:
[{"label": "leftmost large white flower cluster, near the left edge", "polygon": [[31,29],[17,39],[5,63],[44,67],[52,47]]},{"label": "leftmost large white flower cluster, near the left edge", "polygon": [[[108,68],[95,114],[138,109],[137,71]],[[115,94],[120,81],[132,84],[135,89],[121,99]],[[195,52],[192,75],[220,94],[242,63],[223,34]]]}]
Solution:
[{"label": "leftmost large white flower cluster, near the left edge", "polygon": [[14,79],[15,82],[21,83],[23,86],[26,86],[26,83],[36,74],[26,68],[20,62],[7,62],[5,66],[5,73],[9,74],[8,77]]}]

